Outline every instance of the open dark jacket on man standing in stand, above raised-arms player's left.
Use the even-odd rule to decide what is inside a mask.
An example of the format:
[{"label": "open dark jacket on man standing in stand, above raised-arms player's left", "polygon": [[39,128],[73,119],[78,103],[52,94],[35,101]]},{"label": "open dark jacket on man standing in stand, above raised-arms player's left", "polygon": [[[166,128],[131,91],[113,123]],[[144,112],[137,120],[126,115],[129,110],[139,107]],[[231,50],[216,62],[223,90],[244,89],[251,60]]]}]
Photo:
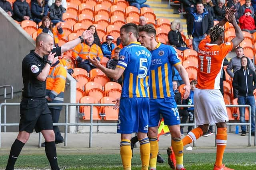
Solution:
[{"label": "open dark jacket on man standing in stand, above raised-arms player's left", "polygon": [[[194,34],[194,20],[195,20],[195,16],[196,16],[196,11],[195,12],[191,12],[188,15],[188,19],[187,19],[187,30],[188,30],[188,35],[192,35]],[[213,27],[213,20],[212,17],[209,15],[209,13],[204,9],[203,15],[202,15],[202,35],[204,35],[205,33],[208,34],[211,27]]]}]

